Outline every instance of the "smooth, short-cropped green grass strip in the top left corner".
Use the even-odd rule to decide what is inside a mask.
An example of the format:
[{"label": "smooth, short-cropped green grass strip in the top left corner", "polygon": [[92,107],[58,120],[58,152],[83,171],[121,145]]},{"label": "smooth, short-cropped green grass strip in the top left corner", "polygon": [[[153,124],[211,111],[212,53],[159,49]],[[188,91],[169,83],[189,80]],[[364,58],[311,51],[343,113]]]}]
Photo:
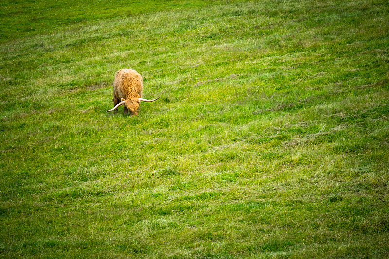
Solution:
[{"label": "smooth, short-cropped green grass strip in the top left corner", "polygon": [[[221,0],[177,1],[12,1],[0,3],[0,41],[51,34],[62,26],[80,26],[91,20],[137,16],[164,10],[210,6]],[[230,1],[233,2],[233,1]]]}]

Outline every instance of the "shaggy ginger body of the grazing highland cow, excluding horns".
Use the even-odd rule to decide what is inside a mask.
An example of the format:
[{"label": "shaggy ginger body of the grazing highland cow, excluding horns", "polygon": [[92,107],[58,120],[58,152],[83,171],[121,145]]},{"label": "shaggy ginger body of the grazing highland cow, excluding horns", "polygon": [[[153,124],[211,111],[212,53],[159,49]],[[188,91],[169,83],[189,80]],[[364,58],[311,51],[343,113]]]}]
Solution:
[{"label": "shaggy ginger body of the grazing highland cow, excluding horns", "polygon": [[[143,78],[135,70],[120,69],[115,74],[113,81],[113,105],[119,104],[125,100],[124,114],[130,111],[130,115],[138,115],[139,103],[138,98],[143,94]],[[117,108],[114,113],[117,112]]]}]

